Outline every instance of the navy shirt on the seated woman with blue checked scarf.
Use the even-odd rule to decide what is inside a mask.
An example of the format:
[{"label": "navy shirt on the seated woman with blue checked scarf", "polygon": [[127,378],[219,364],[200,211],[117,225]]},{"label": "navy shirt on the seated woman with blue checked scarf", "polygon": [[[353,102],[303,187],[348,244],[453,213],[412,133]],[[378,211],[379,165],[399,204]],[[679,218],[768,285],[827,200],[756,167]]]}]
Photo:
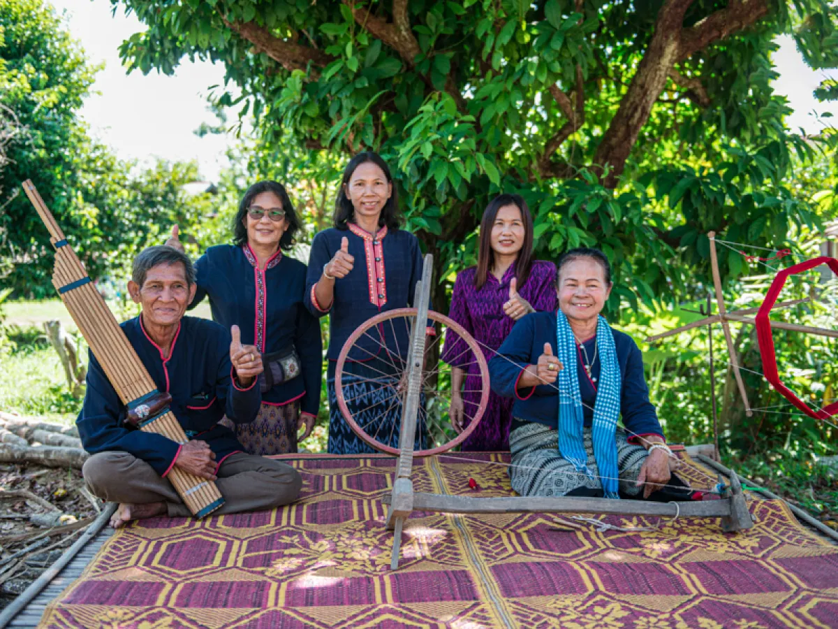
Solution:
[{"label": "navy shirt on the seated woman with blue checked scarf", "polygon": [[[623,425],[633,435],[644,436],[658,434],[664,436],[658,422],[658,414],[649,402],[649,387],[643,371],[643,355],[634,340],[623,332],[613,330],[614,346],[617,349],[617,361],[622,376],[620,392],[620,414]],[[512,415],[526,422],[545,424],[556,428],[559,419],[559,392],[556,387],[541,384],[537,387],[519,389],[518,381],[525,368],[538,363],[538,357],[544,352],[544,344],[550,343],[553,356],[556,356],[556,313],[535,312],[522,317],[512,328],[498,349],[498,355],[489,361],[489,376],[492,390],[504,398],[515,398]],[[593,356],[596,349],[596,336],[583,344],[587,356]],[[600,361],[594,361],[591,377],[587,376],[582,361],[582,351],[578,350],[577,377],[579,393],[582,395],[582,414],[585,425],[593,423],[593,407],[597,402],[596,382],[599,380]],[[515,427],[513,427],[515,428]],[[636,436],[635,436],[636,435]]]}]

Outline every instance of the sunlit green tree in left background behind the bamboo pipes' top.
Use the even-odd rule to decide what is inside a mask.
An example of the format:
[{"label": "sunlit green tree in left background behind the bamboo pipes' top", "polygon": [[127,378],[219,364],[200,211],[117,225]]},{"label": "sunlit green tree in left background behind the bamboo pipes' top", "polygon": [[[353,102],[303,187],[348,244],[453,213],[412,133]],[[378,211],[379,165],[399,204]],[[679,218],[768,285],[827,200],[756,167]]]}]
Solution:
[{"label": "sunlit green tree in left background behind the bamboo pipes' top", "polygon": [[211,213],[189,195],[196,164],[146,169],[90,138],[79,112],[96,67],[45,0],[0,2],[0,288],[54,295],[49,234],[21,183],[32,179],[93,278],[122,275],[173,222]]}]

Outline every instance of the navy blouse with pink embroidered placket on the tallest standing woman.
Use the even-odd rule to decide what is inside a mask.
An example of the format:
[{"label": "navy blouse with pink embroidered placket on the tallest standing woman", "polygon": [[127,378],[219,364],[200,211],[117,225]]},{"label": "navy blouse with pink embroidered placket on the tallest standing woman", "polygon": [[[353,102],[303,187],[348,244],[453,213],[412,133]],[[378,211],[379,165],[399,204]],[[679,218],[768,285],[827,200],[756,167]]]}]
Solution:
[{"label": "navy blouse with pink embroidered placket on the tallest standing woman", "polygon": [[[340,249],[343,238],[349,240],[349,255],[354,257],[352,270],[334,283],[334,300],[323,308],[314,294],[315,284],[323,274],[323,265]],[[419,241],[408,231],[388,231],[382,227],[375,235],[349,223],[349,229],[331,227],[319,232],[312,242],[306,279],[306,305],[318,317],[331,312],[326,356],[338,360],[341,348],[358,326],[388,310],[413,304],[416,282],[422,279],[422,251]],[[370,361],[382,346],[394,354],[406,356],[409,346],[404,322],[380,325],[375,337],[364,335],[355,341],[349,359]]]}]

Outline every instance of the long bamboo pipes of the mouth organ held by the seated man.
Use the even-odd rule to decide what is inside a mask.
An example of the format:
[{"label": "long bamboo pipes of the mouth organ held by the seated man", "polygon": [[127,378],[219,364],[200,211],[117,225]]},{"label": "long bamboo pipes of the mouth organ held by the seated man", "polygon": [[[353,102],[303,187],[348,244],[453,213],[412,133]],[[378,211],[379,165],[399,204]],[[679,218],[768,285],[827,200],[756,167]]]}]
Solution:
[{"label": "long bamboo pipes of the mouth organ held by the seated man", "polygon": [[[90,281],[79,257],[66,243],[64,232],[38,194],[38,190],[28,179],[23,182],[23,190],[41,221],[44,221],[49,230],[49,241],[55,247],[53,286],[59,291],[59,296],[70,311],[75,325],[78,325],[81,335],[85,337],[122,403],[129,406],[136,400],[157,392],[152,377],[148,375],[137,352],[108,309],[105,299],[102,299]],[[140,424],[139,428],[145,432],[162,434],[178,444],[189,441],[178,419],[168,407],[158,417],[149,418]],[[224,497],[213,481],[206,481],[178,467],[169,471],[167,479],[195,517],[204,517],[224,504]]]}]

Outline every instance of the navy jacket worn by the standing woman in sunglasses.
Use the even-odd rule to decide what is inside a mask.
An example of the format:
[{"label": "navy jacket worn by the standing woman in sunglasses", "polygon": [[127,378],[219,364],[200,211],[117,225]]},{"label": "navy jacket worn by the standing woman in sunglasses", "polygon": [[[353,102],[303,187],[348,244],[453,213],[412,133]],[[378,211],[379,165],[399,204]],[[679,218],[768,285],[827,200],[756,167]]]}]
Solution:
[{"label": "navy jacket worn by the standing woman in sunglasses", "polygon": [[209,247],[195,268],[198,290],[190,309],[209,296],[213,319],[227,330],[238,325],[245,345],[263,355],[297,350],[301,375],[262,393],[262,402],[284,406],[299,400],[303,413],[317,416],[323,340],[318,320],[303,304],[306,265],[277,252],[260,269],[248,245],[220,245]]}]

